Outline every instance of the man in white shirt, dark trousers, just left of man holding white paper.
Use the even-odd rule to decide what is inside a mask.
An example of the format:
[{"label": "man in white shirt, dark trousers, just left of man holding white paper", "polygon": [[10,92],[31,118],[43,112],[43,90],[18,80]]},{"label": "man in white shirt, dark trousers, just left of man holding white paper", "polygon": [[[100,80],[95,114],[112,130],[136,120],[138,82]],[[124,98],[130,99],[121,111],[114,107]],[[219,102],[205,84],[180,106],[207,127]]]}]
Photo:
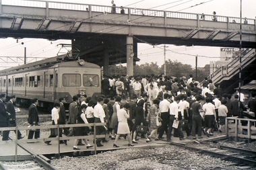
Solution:
[{"label": "man in white shirt, dark trousers, just left of man holding white paper", "polygon": [[168,134],[168,124],[170,122],[170,114],[168,111],[170,108],[170,102],[167,99],[168,99],[168,94],[164,93],[164,99],[159,103],[159,112],[162,118],[162,126],[160,126],[159,135],[158,135],[159,139],[162,138],[162,135],[164,134],[164,132]]}]

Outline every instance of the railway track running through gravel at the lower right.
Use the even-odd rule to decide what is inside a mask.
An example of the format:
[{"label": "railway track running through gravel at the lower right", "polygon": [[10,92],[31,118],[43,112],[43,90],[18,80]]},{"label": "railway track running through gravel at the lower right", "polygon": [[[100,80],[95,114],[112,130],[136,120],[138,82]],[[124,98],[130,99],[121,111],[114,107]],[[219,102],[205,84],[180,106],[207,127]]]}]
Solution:
[{"label": "railway track running through gravel at the lower right", "polygon": [[232,161],[237,169],[256,169],[256,152],[243,148],[235,148],[230,146],[224,146],[221,144],[214,144],[210,142],[201,142],[193,140],[189,144],[181,142],[168,141],[169,144],[180,146],[187,150],[195,151],[203,155],[210,155],[212,157],[218,157],[225,161]]}]

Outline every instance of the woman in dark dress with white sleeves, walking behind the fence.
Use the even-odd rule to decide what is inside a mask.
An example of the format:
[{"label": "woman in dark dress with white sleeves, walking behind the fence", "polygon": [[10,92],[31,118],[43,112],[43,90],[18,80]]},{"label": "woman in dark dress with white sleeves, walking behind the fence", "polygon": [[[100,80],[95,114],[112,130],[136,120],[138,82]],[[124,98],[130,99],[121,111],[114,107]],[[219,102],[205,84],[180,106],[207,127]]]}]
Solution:
[{"label": "woman in dark dress with white sleeves, walking behind the fence", "polygon": [[[85,105],[85,104],[81,105],[81,111],[77,115],[77,124],[89,124],[87,119],[86,119],[86,114],[85,114],[86,113],[86,108],[87,108],[87,105]],[[89,128],[91,129],[90,126],[89,126]],[[86,132],[86,127],[77,127],[77,128],[75,128],[74,136],[88,136],[88,134]],[[83,140],[86,143],[86,148],[92,147],[92,145],[90,145],[88,143],[86,138],[84,138]],[[79,150],[80,149],[80,148],[77,147],[78,142],[79,142],[79,139],[75,139],[75,144],[73,146],[74,150]]]}]

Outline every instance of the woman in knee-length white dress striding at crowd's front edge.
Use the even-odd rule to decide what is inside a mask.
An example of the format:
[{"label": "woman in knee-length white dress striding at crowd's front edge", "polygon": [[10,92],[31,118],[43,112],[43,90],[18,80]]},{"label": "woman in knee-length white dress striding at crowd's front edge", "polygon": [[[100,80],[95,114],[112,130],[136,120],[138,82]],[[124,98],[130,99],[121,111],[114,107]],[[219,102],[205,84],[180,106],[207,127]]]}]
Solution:
[{"label": "woman in knee-length white dress striding at crowd's front edge", "polygon": [[130,105],[129,103],[125,103],[125,105],[123,105],[123,108],[121,110],[119,110],[119,112],[117,112],[117,118],[118,118],[118,128],[117,128],[117,136],[115,138],[115,142],[113,144],[114,147],[119,147],[117,146],[117,140],[119,140],[119,136],[121,134],[127,134],[127,138],[129,141],[128,146],[134,146],[133,144],[131,144],[131,134],[130,134],[130,130],[129,130],[129,126],[127,124],[127,118],[129,118],[129,110]]}]

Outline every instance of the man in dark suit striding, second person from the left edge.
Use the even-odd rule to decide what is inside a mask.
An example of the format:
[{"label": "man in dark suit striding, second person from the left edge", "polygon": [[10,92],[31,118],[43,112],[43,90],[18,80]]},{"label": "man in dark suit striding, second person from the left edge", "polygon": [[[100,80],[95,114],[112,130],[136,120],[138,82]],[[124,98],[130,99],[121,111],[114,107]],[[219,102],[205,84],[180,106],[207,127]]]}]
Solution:
[{"label": "man in dark suit striding, second person from the left edge", "polygon": [[[9,101],[7,102],[6,104],[6,110],[7,112],[9,112],[11,114],[11,118],[9,120],[9,127],[15,127],[17,126],[16,124],[16,112],[15,112],[15,109],[14,109],[14,105],[13,103],[15,103],[16,101],[16,96],[15,95],[11,95],[9,97]],[[16,130],[14,130],[14,132],[16,133]],[[9,131],[7,131],[8,133],[8,136],[9,136]],[[22,134],[20,133],[20,130],[18,130],[18,139],[21,139],[21,138],[24,138],[24,136],[22,136]]]}]

